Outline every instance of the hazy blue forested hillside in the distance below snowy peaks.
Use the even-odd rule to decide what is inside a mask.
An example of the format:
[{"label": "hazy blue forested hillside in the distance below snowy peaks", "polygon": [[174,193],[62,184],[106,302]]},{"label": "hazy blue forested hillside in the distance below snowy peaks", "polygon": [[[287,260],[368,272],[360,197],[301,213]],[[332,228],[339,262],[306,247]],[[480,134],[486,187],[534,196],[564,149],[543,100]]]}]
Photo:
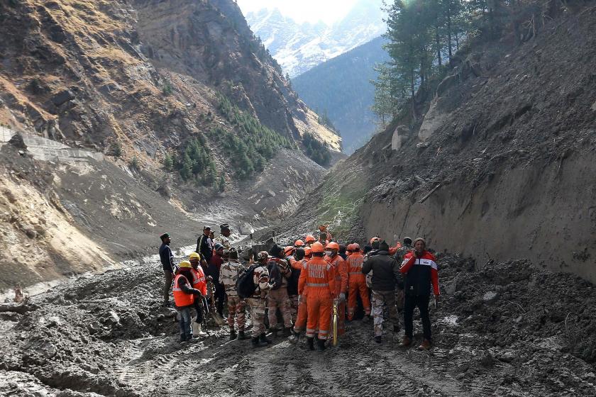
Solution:
[{"label": "hazy blue forested hillside in the distance below snowy peaks", "polygon": [[387,62],[386,40],[378,37],[292,79],[292,87],[308,106],[329,117],[341,133],[344,152],[362,146],[375,131],[371,111],[377,79],[375,65]]}]

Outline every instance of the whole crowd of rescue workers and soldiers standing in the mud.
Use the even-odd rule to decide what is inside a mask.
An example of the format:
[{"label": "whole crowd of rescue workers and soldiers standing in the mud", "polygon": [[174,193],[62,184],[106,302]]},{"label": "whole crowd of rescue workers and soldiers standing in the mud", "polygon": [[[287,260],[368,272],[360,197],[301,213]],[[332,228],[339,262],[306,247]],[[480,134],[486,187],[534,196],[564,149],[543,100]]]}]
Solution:
[{"label": "whole crowd of rescue workers and soldiers standing in the mud", "polygon": [[[400,346],[412,345],[413,313],[417,307],[424,334],[419,349],[431,347],[429,303],[431,293],[435,305],[438,301],[438,269],[423,238],[412,241],[405,237],[403,245],[397,242],[390,247],[380,237],[373,237],[362,250],[356,242],[338,244],[331,233],[321,228],[318,240],[307,235],[294,245],[276,244],[269,252],[250,252],[248,263],[242,264],[238,250],[230,244],[230,226],[224,224],[220,229],[221,235],[214,237],[211,228],[205,226],[195,252],[178,265],[174,264],[170,235],[160,236],[160,261],[165,276],[163,304],[170,306],[173,282],[181,342],[204,337],[207,314],[211,311],[211,315],[223,318],[226,302],[231,340],[247,339],[248,305],[254,347],[271,343],[265,336],[268,313],[268,326],[274,337],[281,333],[297,340],[305,332],[310,350],[314,350],[315,340],[324,350],[333,311],[337,335],[341,336],[346,329],[346,313],[348,321],[355,319],[360,298],[365,323],[370,322],[372,313],[376,342],[382,342],[384,316],[391,320],[397,335],[398,311],[402,311],[405,332]],[[191,309],[196,316],[192,316]]]}]

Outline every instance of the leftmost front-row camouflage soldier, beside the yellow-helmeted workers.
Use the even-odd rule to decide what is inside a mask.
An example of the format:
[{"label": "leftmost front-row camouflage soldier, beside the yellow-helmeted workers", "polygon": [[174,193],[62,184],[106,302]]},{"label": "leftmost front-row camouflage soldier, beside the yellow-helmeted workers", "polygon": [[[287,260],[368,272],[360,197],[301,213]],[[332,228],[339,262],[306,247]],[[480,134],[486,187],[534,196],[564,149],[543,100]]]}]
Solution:
[{"label": "leftmost front-row camouflage soldier, beside the yellow-helmeted workers", "polygon": [[234,330],[234,317],[238,325],[238,339],[245,339],[244,335],[244,311],[246,301],[238,296],[236,291],[236,281],[238,275],[242,272],[244,267],[238,261],[238,251],[232,248],[228,251],[228,262],[221,265],[219,271],[219,282],[223,284],[226,289],[226,296],[228,296],[228,326],[230,327],[230,340],[236,339],[236,330]]}]

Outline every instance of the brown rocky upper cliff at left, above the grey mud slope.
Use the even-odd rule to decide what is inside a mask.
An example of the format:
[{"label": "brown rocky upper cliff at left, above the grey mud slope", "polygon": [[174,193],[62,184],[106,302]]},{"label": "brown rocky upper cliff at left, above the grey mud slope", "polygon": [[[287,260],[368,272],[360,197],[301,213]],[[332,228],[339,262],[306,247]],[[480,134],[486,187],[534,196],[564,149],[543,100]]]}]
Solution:
[{"label": "brown rocky upper cliff at left, above the grey mud slope", "polygon": [[205,116],[221,93],[292,140],[325,140],[231,0],[9,1],[0,22],[0,122],[12,127],[102,152],[119,142],[158,168],[218,125]]}]

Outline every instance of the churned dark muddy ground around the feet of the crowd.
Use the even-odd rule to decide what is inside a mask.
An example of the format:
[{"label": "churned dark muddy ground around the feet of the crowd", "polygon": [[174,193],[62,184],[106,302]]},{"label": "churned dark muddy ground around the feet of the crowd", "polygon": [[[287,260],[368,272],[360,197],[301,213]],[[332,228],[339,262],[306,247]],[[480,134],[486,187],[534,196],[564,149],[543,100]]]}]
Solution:
[{"label": "churned dark muddy ground around the feet of the crowd", "polygon": [[[348,324],[341,346],[253,349],[226,327],[181,345],[155,258],[0,306],[2,396],[594,396],[596,290],[527,262],[440,260],[435,345]],[[12,310],[12,311],[11,311]],[[18,313],[21,312],[21,313]],[[420,324],[415,323],[416,341]]]}]

